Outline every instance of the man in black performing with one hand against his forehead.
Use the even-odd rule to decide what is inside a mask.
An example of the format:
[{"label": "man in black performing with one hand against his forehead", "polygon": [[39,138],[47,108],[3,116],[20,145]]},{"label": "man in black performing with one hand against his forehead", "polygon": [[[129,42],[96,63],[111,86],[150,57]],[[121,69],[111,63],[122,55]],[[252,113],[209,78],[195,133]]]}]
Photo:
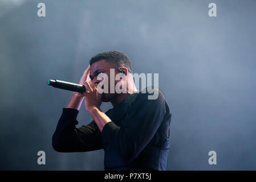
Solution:
[{"label": "man in black performing with one hand against his forehead", "polygon": [[[125,85],[122,93],[99,93],[97,76],[111,69],[123,77],[111,85]],[[79,84],[86,86],[83,94],[74,92],[59,119],[52,136],[52,146],[58,152],[86,152],[104,149],[105,170],[166,170],[170,142],[170,110],[161,90],[155,100],[151,93],[137,92],[128,56],[118,51],[99,53],[92,57]],[[90,79],[90,78],[91,79]],[[105,78],[104,78],[105,79]],[[88,81],[90,80],[90,81]],[[84,106],[94,121],[76,128],[76,117]],[[100,110],[101,102],[111,102],[112,109]]]}]

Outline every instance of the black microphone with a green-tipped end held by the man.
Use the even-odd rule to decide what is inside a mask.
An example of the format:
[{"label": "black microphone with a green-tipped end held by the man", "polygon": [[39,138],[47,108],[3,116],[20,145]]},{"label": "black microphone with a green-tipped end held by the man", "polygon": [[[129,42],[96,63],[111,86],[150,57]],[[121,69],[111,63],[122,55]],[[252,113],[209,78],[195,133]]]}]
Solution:
[{"label": "black microphone with a green-tipped end held by the man", "polygon": [[70,90],[70,91],[79,92],[79,93],[86,92],[86,86],[74,84],[74,83],[67,82],[67,81],[50,80],[49,79],[47,81],[47,84],[50,86],[53,86],[55,88],[58,88],[58,89]]}]

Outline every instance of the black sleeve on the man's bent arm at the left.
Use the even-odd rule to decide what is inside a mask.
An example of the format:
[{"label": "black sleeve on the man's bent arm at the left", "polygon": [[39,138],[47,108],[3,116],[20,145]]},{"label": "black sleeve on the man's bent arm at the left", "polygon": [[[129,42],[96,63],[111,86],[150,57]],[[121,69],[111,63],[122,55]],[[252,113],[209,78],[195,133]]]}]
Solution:
[{"label": "black sleeve on the man's bent arm at the left", "polygon": [[86,152],[103,148],[101,133],[95,121],[86,126],[76,128],[76,117],[79,111],[71,108],[63,108],[62,115],[54,134],[52,135],[52,147],[58,152]]}]

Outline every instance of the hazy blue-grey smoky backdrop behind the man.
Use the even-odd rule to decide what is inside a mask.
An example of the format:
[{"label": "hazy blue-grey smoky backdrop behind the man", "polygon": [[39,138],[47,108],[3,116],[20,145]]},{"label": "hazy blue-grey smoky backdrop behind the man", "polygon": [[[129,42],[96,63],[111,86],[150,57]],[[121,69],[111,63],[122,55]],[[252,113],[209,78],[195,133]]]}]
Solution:
[{"label": "hazy blue-grey smoky backdrop behind the man", "polygon": [[[255,10],[248,0],[0,0],[0,169],[104,169],[103,150],[52,148],[72,93],[47,80],[78,82],[92,56],[118,50],[134,73],[159,73],[173,114],[168,170],[255,170]],[[78,121],[92,121],[84,104]],[[212,150],[217,165],[208,164]]]}]

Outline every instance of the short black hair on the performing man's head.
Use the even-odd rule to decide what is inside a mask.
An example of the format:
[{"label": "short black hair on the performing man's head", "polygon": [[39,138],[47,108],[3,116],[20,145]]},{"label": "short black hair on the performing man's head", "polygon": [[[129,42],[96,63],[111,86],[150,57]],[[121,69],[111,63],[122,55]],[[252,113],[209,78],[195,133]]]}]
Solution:
[{"label": "short black hair on the performing man's head", "polygon": [[107,52],[101,52],[95,55],[90,60],[90,65],[94,64],[97,61],[100,60],[106,60],[106,61],[112,61],[113,63],[116,63],[117,65],[127,67],[130,72],[132,72],[132,63],[129,57],[120,51],[107,51]]}]

